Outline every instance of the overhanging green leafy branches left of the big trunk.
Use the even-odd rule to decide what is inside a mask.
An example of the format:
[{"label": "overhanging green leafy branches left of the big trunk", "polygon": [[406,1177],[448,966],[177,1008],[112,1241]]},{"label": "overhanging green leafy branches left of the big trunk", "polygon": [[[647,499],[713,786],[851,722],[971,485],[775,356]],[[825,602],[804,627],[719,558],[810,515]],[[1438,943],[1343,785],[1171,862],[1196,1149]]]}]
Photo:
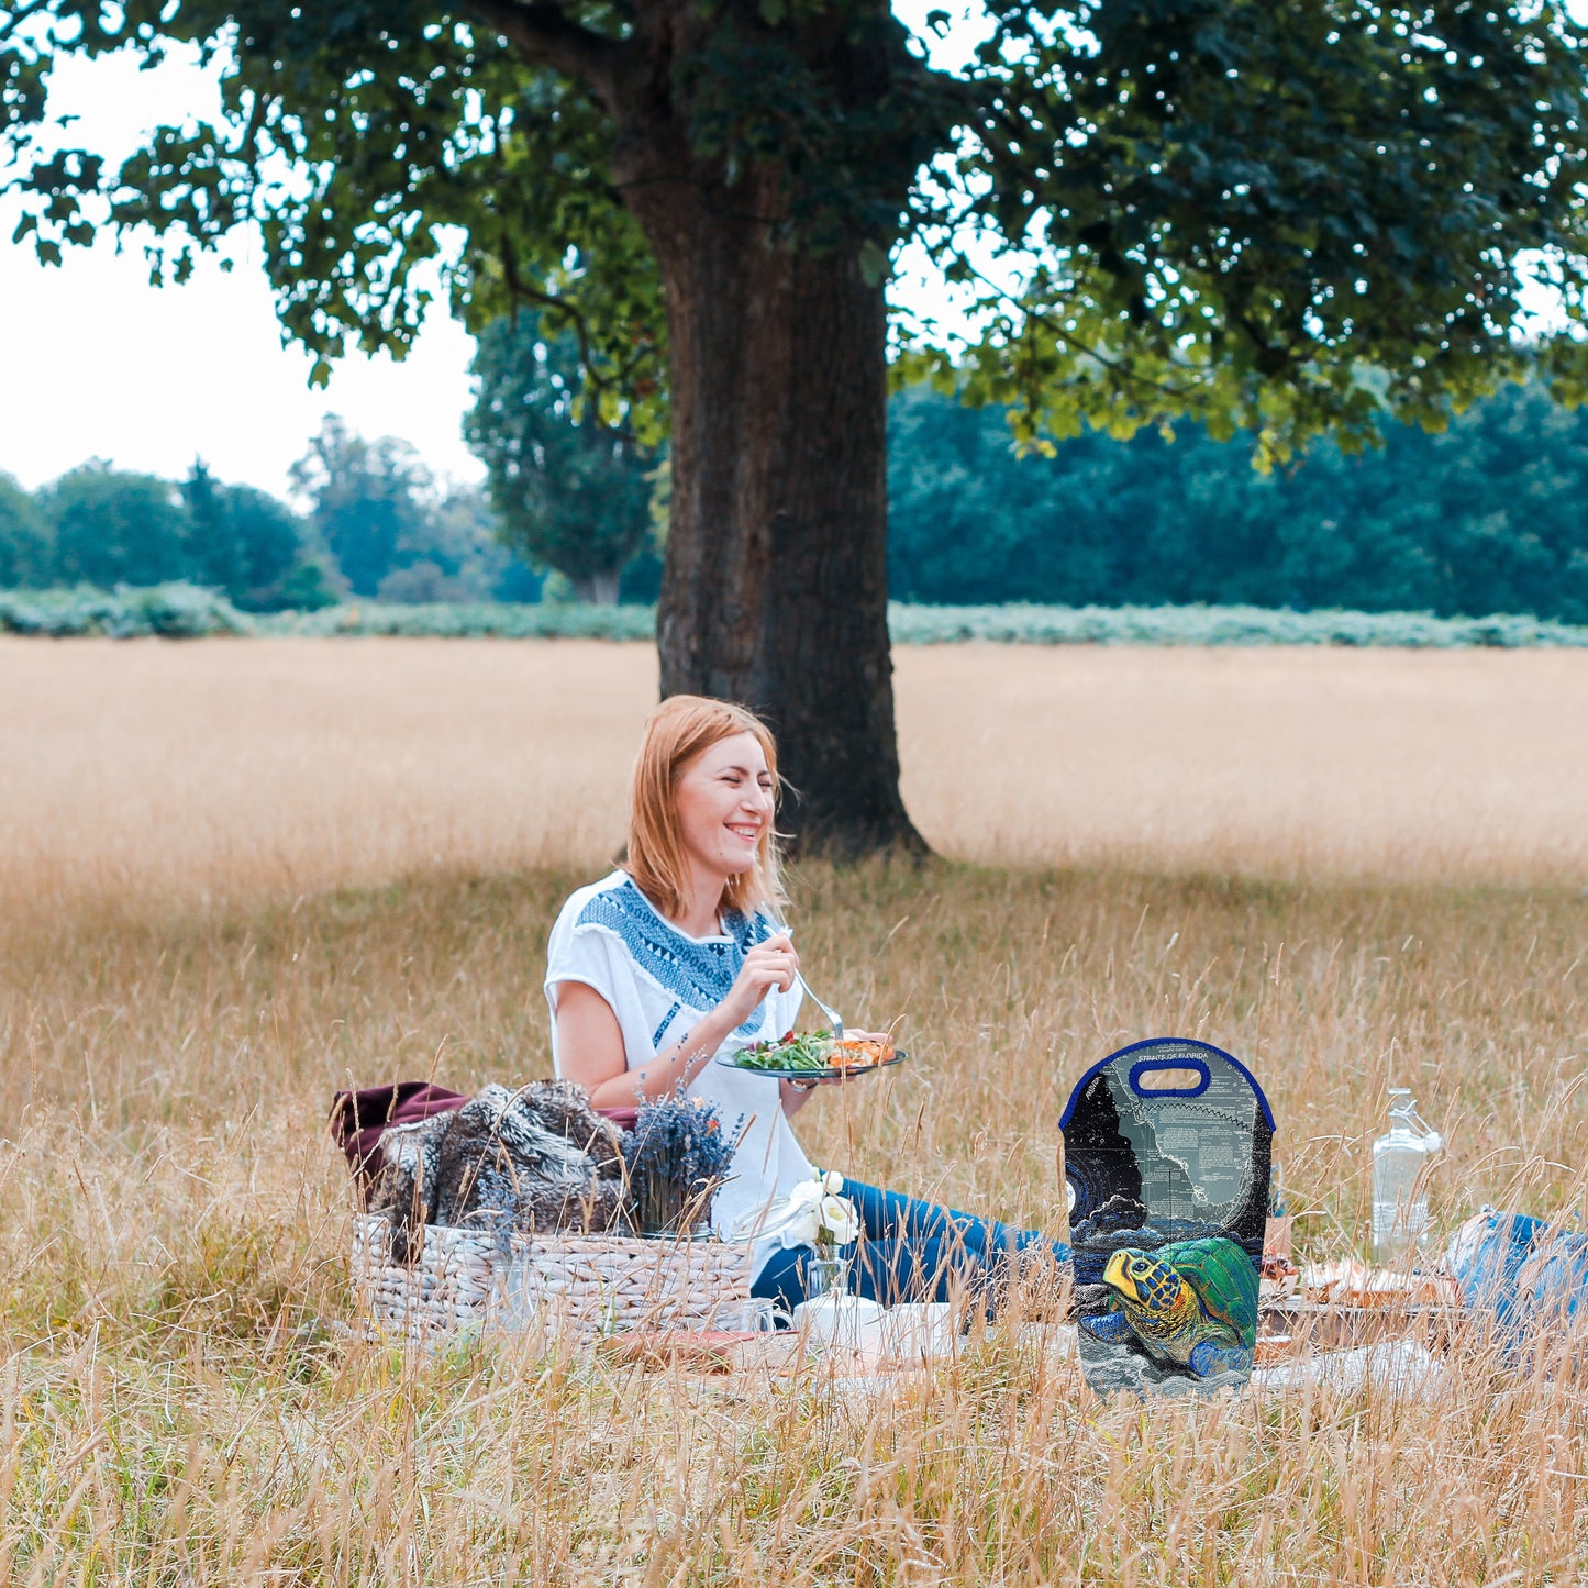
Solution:
[{"label": "overhanging green leafy branches left of the big trunk", "polygon": [[[184,281],[200,251],[256,225],[283,327],[319,354],[319,384],[354,341],[402,357],[445,289],[473,327],[518,303],[553,311],[600,400],[664,400],[665,316],[607,175],[611,119],[478,16],[424,0],[24,11],[0,33],[0,125],[22,156],[14,240],[48,262],[108,224],[146,238],[152,279]],[[603,5],[583,16],[619,25]],[[44,125],[60,56],[133,49],[154,64],[173,43],[225,62],[218,121],[157,127],[119,168],[60,146],[64,129]]]}]

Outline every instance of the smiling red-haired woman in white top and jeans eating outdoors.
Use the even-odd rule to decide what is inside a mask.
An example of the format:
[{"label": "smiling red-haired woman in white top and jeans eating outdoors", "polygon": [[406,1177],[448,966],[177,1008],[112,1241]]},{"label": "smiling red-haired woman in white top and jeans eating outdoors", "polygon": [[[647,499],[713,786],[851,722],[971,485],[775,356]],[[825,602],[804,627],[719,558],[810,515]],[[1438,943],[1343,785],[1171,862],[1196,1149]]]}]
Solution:
[{"label": "smiling red-haired woman in white top and jeans eating outdoors", "polygon": [[[597,1108],[680,1088],[743,1132],[718,1193],[719,1229],[754,1228],[815,1170],[789,1121],[815,1085],[716,1062],[792,1031],[804,992],[780,924],[772,821],[777,745],[750,711],[673,696],[651,713],[634,769],[621,870],[580,888],[551,931],[546,999],[557,1073]],[[845,1180],[862,1240],[854,1288],[885,1304],[985,1283],[1042,1237]],[[1064,1247],[1051,1248],[1061,1261]],[[751,1291],[794,1305],[808,1247],[756,1242]]]}]

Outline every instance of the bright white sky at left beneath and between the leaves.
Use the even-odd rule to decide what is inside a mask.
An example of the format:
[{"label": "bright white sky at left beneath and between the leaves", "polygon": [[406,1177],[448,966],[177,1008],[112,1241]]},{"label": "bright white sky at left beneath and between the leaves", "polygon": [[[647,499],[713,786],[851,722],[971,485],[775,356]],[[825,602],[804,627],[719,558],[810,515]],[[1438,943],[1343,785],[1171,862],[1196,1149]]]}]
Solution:
[{"label": "bright white sky at left beneath and between the leaves", "polygon": [[[924,16],[934,3],[900,10]],[[934,43],[934,60],[966,51],[975,30],[961,21]],[[119,159],[145,129],[211,113],[218,71],[176,57],[152,71],[129,56],[67,60],[51,110],[81,118],[75,145]],[[19,213],[0,198],[0,473],[27,489],[87,457],[173,480],[202,457],[221,480],[286,494],[287,470],[327,413],[413,443],[437,475],[483,476],[461,434],[473,338],[445,305],[400,364],[351,353],[329,386],[310,389],[313,360],[283,345],[257,240],[237,240],[230,273],[202,256],[184,286],[152,287],[137,241],[118,252],[100,237],[68,248],[59,267],[40,264],[30,245],[10,241]]]}]

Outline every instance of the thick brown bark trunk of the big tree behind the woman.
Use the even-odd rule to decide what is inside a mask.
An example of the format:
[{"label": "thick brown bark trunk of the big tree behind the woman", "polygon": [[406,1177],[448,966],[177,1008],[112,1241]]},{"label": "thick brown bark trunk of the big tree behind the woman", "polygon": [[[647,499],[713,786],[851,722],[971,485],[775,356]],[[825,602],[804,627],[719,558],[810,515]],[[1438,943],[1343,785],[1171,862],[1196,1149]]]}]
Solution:
[{"label": "thick brown bark trunk of the big tree behind the woman", "polygon": [[775,183],[659,187],[630,203],[672,338],[662,694],[767,719],[800,853],[923,853],[899,796],[888,653],[883,287],[858,245],[777,246]]}]

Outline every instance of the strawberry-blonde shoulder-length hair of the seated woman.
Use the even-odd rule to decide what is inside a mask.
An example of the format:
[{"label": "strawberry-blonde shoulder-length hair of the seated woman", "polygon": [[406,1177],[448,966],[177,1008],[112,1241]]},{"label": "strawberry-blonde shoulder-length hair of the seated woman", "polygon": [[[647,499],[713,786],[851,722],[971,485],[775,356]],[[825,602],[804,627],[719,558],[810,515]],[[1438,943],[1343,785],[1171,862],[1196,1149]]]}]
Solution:
[{"label": "strawberry-blonde shoulder-length hair of the seated woman", "polygon": [[[735,734],[756,735],[767,757],[772,788],[778,791],[777,740],[767,724],[742,705],[705,696],[672,696],[646,718],[640,754],[634,762],[624,870],[665,916],[676,918],[689,908],[689,867],[678,834],[678,778],[696,756]],[[750,915],[759,907],[778,912],[784,904],[777,834],[767,823],[756,845],[754,865],[729,878],[719,908]]]}]

